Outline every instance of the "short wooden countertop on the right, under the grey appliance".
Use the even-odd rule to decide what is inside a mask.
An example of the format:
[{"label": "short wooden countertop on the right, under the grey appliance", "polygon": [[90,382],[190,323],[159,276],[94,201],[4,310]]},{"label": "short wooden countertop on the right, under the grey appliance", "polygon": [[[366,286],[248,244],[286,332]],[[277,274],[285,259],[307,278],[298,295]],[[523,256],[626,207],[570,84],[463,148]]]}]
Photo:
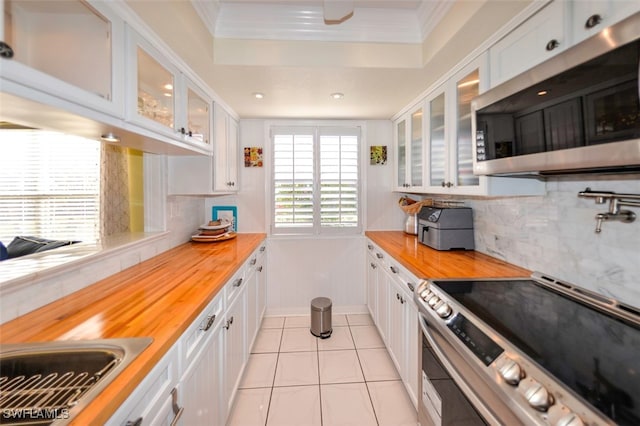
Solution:
[{"label": "short wooden countertop on the right, under the grey appliance", "polygon": [[402,231],[365,235],[418,278],[528,277],[531,271],[475,251],[438,251]]}]

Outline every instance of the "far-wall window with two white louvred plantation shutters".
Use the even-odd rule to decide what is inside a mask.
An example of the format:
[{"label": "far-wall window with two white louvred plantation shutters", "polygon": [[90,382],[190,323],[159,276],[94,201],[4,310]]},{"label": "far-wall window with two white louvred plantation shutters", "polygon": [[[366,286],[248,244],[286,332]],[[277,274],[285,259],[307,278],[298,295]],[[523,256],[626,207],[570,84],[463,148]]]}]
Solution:
[{"label": "far-wall window with two white louvred plantation shutters", "polygon": [[358,127],[274,127],[274,234],[356,233]]}]

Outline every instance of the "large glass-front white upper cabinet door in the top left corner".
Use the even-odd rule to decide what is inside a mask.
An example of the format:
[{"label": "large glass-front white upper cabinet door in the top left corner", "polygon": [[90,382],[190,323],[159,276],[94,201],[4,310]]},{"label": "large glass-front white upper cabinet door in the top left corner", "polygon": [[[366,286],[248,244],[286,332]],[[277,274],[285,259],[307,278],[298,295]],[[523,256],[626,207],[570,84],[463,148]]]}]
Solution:
[{"label": "large glass-front white upper cabinet door in the top left corner", "polygon": [[2,78],[122,117],[124,22],[105,2],[4,1]]}]

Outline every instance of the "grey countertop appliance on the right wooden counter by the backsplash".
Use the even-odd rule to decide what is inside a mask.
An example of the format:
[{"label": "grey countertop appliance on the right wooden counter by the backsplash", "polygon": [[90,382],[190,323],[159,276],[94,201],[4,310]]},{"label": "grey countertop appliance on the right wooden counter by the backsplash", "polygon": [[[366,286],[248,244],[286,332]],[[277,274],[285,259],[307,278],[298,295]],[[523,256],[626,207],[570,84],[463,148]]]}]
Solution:
[{"label": "grey countertop appliance on the right wooden counter by the backsplash", "polygon": [[418,241],[436,250],[473,250],[470,207],[422,207],[418,213]]}]

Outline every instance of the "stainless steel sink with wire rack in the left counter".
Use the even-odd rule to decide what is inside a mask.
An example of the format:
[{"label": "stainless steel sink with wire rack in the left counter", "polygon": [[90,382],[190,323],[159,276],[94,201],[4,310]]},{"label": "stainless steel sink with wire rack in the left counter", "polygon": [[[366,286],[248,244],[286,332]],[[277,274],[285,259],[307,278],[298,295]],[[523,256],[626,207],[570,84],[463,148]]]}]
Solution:
[{"label": "stainless steel sink with wire rack in the left counter", "polygon": [[2,345],[0,424],[69,423],[152,341],[142,337]]}]

